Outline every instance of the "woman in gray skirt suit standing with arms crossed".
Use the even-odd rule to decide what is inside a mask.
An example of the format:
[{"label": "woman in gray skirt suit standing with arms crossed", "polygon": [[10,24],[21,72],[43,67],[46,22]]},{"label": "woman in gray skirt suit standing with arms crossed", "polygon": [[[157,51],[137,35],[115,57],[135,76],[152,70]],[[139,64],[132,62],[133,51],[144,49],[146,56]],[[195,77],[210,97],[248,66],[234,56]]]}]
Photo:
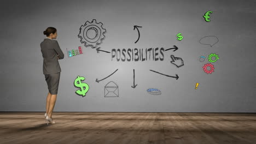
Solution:
[{"label": "woman in gray skirt suit standing with arms crossed", "polygon": [[42,43],[40,43],[40,47],[44,59],[43,74],[49,90],[46,99],[46,112],[44,116],[47,124],[54,124],[55,121],[53,121],[51,116],[53,115],[53,109],[57,98],[61,73],[58,59],[63,59],[64,54],[60,49],[57,40],[54,40],[57,38],[56,28],[46,28],[44,35],[46,35],[46,38],[42,41]]}]

